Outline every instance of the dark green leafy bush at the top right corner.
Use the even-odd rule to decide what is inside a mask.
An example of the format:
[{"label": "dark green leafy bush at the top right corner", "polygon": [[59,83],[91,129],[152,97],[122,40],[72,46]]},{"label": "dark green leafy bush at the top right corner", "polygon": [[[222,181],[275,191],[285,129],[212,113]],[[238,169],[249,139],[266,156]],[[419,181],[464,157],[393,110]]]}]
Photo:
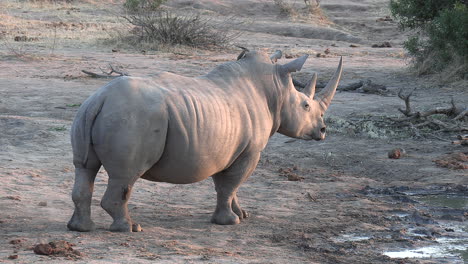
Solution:
[{"label": "dark green leafy bush at the top right corner", "polygon": [[460,0],[391,0],[390,10],[403,30],[404,43],[421,74],[450,69],[468,73],[468,2]]}]

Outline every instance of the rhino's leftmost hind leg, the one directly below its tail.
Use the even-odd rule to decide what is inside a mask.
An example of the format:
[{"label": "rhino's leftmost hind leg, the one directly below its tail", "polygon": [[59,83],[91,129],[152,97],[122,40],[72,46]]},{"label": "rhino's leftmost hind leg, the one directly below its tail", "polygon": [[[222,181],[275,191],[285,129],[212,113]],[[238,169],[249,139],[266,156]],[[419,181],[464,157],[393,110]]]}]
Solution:
[{"label": "rhino's leftmost hind leg, the one directly below its tail", "polygon": [[67,224],[68,229],[72,231],[87,232],[94,229],[94,222],[91,220],[91,198],[98,171],[99,166],[94,169],[80,166],[75,168],[75,185],[72,192],[75,211]]}]

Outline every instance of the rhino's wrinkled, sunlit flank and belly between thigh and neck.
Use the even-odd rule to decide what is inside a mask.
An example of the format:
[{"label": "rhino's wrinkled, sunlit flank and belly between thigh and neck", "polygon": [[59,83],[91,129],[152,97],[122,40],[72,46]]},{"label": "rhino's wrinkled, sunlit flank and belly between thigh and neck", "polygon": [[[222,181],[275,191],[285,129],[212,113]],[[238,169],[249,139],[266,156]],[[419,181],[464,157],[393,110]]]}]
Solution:
[{"label": "rhino's wrinkled, sunlit flank and belly between thigh and neck", "polygon": [[197,182],[226,169],[242,152],[266,145],[271,120],[260,113],[258,99],[243,93],[249,87],[185,77],[158,83],[167,89],[168,134],[161,159],[143,178]]}]

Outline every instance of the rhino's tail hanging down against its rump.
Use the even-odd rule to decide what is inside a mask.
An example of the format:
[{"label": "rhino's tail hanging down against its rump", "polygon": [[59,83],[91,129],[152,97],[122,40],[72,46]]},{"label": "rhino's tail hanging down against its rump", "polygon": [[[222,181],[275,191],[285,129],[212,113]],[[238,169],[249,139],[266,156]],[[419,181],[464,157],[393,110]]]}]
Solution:
[{"label": "rhino's tail hanging down against its rump", "polygon": [[92,148],[91,131],[103,105],[104,96],[95,94],[82,104],[75,116],[70,132],[75,166],[86,168],[90,148]]}]

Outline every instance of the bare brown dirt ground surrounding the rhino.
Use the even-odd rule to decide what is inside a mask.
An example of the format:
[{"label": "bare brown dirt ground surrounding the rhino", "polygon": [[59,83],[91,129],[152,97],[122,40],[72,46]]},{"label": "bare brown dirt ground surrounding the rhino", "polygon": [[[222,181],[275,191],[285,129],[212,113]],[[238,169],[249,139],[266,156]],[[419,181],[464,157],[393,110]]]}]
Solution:
[{"label": "bare brown dirt ground surrounding the rhino", "polygon": [[[98,174],[92,203],[97,230],[68,231],[73,212],[69,129],[89,95],[108,82],[81,72],[108,63],[132,76],[171,71],[197,76],[236,58],[239,49],[138,51],[103,44],[125,27],[116,18],[122,1],[0,2],[0,263],[463,263],[467,260],[467,170],[437,166],[456,154],[467,164],[457,133],[415,137],[373,123],[398,117],[399,89],[415,91],[421,109],[467,103],[465,81],[417,77],[408,68],[405,35],[384,0],[323,0],[310,15],[302,1],[281,15],[274,1],[170,1],[178,12],[199,11],[248,21],[235,44],[312,56],[298,78],[327,80],[343,56],[342,83],[371,79],[387,92],[338,92],[326,114],[322,142],[274,135],[258,168],[238,196],[251,217],[235,226],[210,223],[211,180],[190,185],[137,181],[129,208],[141,233],[107,231],[111,218],[99,206],[107,175]],[[15,41],[26,36],[28,41]],[[390,42],[391,47],[372,48]],[[112,50],[116,52],[113,52]],[[329,49],[330,52],[325,52]],[[321,55],[317,56],[320,53]],[[285,63],[288,59],[281,59]],[[460,133],[458,133],[460,134]],[[387,153],[404,148],[401,159]],[[464,155],[464,156],[463,156]],[[465,160],[463,161],[463,157]],[[294,181],[299,179],[299,181]],[[419,196],[458,197],[437,206]],[[385,252],[461,241],[457,251],[426,258],[390,258]],[[71,253],[38,255],[37,244],[65,240]],[[68,245],[68,244],[67,244]]]}]

